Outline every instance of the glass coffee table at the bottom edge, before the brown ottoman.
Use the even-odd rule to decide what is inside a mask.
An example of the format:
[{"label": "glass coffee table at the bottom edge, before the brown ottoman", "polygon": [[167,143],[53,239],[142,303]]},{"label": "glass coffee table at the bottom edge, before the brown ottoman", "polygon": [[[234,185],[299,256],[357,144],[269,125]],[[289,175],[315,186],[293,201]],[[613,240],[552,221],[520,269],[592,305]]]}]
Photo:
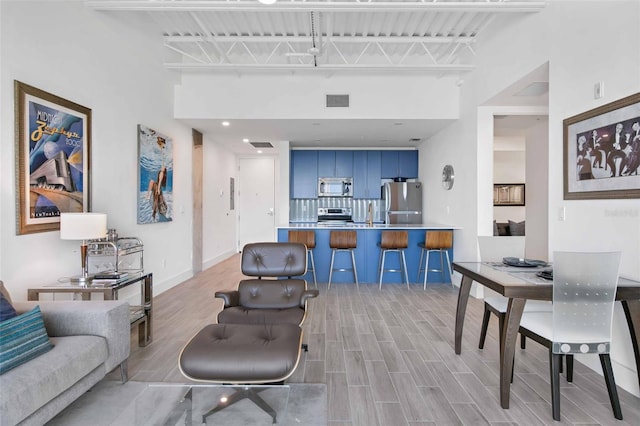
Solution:
[{"label": "glass coffee table at the bottom edge, before the brown ottoman", "polygon": [[287,416],[290,387],[151,383],[114,424],[270,425]]}]

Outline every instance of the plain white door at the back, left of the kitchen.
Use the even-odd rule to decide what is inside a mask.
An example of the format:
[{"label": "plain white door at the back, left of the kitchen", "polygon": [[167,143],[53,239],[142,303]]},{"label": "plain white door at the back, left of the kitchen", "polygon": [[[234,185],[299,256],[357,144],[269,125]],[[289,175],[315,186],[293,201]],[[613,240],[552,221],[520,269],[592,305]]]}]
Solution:
[{"label": "plain white door at the back, left of the kitchen", "polygon": [[274,158],[240,158],[238,180],[238,249],[247,243],[275,241]]}]

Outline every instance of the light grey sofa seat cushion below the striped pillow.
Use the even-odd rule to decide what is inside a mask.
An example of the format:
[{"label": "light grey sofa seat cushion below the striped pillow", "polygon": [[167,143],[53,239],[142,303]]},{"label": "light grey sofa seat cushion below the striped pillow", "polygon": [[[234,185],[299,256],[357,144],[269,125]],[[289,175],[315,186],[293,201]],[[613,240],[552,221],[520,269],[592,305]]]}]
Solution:
[{"label": "light grey sofa seat cushion below the striped pillow", "polygon": [[[51,351],[0,376],[2,424],[16,424],[73,386],[107,358],[98,336],[52,337]],[[103,373],[104,374],[104,373]]]}]

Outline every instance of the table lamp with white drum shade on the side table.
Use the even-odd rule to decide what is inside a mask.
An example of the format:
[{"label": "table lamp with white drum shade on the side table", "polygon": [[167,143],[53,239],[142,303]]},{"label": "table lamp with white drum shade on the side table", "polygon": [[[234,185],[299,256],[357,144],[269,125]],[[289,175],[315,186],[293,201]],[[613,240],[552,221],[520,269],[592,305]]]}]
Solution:
[{"label": "table lamp with white drum shade on the side table", "polygon": [[82,240],[80,256],[82,275],[71,277],[72,283],[86,285],[93,276],[89,275],[87,262],[87,242],[107,235],[107,215],[105,213],[60,213],[60,239]]}]

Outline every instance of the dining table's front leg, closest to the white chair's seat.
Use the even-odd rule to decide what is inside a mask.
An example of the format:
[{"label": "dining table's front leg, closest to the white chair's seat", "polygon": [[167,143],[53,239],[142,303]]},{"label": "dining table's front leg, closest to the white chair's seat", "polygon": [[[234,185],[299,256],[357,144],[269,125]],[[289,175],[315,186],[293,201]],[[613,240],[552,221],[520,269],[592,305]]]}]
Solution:
[{"label": "dining table's front leg, closest to the white chair's seat", "polygon": [[509,408],[511,391],[511,371],[516,350],[516,340],[520,329],[520,319],[526,299],[509,299],[505,327],[502,329],[502,347],[500,348],[500,405]]}]

